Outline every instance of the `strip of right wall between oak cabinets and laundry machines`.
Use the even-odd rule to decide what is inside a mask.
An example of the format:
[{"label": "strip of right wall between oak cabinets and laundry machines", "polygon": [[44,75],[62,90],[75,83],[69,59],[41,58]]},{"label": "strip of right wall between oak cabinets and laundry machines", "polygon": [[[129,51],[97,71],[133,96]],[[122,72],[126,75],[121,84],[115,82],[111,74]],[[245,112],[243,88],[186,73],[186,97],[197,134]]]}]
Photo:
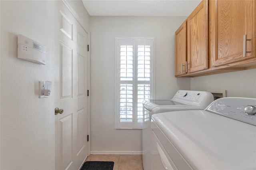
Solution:
[{"label": "strip of right wall between oak cabinets and laundry machines", "polygon": [[224,89],[227,97],[256,98],[256,69],[191,78],[191,90]]}]

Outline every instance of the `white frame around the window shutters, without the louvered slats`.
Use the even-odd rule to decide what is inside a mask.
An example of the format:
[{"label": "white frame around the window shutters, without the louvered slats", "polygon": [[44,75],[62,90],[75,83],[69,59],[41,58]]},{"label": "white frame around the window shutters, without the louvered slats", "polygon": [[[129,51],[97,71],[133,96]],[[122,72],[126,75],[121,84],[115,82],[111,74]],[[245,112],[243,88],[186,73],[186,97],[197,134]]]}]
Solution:
[{"label": "white frame around the window shutters, without the louvered slats", "polygon": [[[132,122],[120,122],[120,85],[122,84],[120,82],[120,65],[119,65],[119,59],[120,54],[119,50],[120,47],[118,47],[118,41],[127,41],[132,42],[133,49],[136,51],[133,51],[133,65],[136,67],[133,67],[133,80],[132,80],[132,87],[133,87],[133,103],[134,101],[138,101],[138,79],[137,79],[137,71],[138,71],[138,41],[143,40],[150,40],[150,99],[154,99],[155,96],[155,38],[154,37],[116,37],[115,40],[115,128],[116,129],[142,129],[142,123],[144,122],[144,115],[142,119],[142,123],[138,123],[138,111],[133,112],[133,121]],[[127,44],[128,45],[128,44]],[[135,46],[136,45],[136,46]],[[136,71],[137,69],[137,71]],[[136,75],[137,74],[137,75]],[[140,85],[140,84],[139,84]],[[134,97],[136,97],[134,99]],[[133,106],[134,107],[134,106]],[[138,106],[137,106],[138,108]],[[135,114],[136,112],[136,114]],[[142,111],[144,114],[144,111]]]}]

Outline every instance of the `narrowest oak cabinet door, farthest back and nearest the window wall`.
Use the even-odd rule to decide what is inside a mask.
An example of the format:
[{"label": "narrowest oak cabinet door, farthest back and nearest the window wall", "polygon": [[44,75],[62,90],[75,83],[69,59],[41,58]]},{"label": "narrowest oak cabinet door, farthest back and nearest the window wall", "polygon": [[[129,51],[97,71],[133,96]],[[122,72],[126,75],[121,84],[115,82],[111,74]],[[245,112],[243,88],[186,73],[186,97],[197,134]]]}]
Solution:
[{"label": "narrowest oak cabinet door, farthest back and nearest the window wall", "polygon": [[186,74],[187,31],[186,21],[175,32],[175,75]]}]

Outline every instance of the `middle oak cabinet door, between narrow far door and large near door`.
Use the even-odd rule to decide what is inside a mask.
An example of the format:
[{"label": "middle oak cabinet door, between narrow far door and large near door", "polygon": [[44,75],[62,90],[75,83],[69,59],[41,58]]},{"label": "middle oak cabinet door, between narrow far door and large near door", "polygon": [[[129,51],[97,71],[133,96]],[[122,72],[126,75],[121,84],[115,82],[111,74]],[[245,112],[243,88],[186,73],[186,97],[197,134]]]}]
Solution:
[{"label": "middle oak cabinet door, between narrow far door and large near door", "polygon": [[188,17],[188,72],[208,69],[208,0]]}]

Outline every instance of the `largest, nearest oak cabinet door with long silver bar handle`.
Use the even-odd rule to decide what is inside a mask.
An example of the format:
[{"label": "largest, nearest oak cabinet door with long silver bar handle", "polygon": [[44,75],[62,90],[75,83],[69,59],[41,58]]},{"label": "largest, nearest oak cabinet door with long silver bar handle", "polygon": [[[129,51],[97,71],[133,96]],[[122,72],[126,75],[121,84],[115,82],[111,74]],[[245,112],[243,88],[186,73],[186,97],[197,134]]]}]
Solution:
[{"label": "largest, nearest oak cabinet door with long silver bar handle", "polygon": [[[244,64],[250,62],[247,59],[254,59],[256,1],[210,0],[209,6],[212,67]],[[248,40],[244,41],[244,35]],[[244,55],[244,51],[248,53]],[[232,64],[237,61],[240,63]]]}]

